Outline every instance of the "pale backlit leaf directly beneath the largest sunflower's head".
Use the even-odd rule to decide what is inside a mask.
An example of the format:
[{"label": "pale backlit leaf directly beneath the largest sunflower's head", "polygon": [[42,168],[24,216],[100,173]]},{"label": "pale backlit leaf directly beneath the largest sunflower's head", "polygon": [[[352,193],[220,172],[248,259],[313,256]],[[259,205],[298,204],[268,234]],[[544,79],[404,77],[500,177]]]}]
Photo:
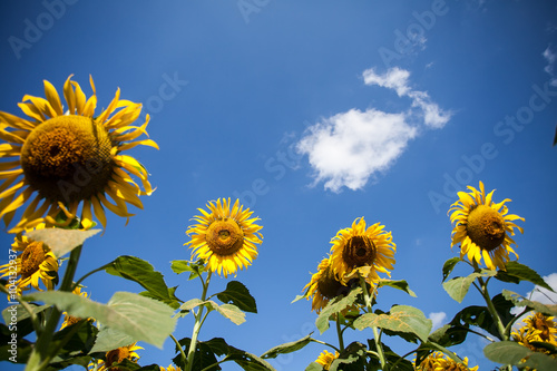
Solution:
[{"label": "pale backlit leaf directly beneath the largest sunflower's head", "polygon": [[26,235],[35,241],[43,242],[50,247],[50,251],[56,257],[61,257],[77,246],[82,245],[87,238],[99,232],[100,230],[79,231],[45,228],[26,232]]}]

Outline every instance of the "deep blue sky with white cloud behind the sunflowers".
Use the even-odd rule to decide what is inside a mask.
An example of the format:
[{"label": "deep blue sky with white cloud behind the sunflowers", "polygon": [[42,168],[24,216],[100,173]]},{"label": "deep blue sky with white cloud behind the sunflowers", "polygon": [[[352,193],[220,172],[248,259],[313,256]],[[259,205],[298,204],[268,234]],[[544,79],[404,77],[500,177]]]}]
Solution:
[{"label": "deep blue sky with white cloud behind the sunflowers", "polygon": [[[179,285],[180,299],[197,297],[198,286],[169,265],[190,256],[183,244],[196,208],[240,197],[261,217],[260,256],[236,277],[258,313],[241,326],[214,314],[202,340],[224,336],[261,354],[314,331],[310,303],[291,301],[331,237],[360,216],[392,232],[392,277],[418,295],[385,289],[378,306],[413,305],[449,321],[461,306],[441,287],[442,263],[458,253],[447,211],[479,180],[526,218],[519,262],[557,285],[555,1],[46,0],[0,9],[0,110],[19,115],[23,95],[43,96],[43,79],[60,90],[74,74],[88,96],[92,76],[98,109],[119,87],[152,116],[160,150],[130,154],[157,189],[127,226],[108,217],[105,234],[87,241],[78,275],[135,255]],[[140,291],[104,273],[85,284],[99,302]],[[225,285],[214,280],[212,291]],[[481,304],[479,295],[465,304]],[[183,319],[176,336],[189,336],[192,323]],[[471,339],[456,350],[485,369],[482,344]],[[174,357],[170,341],[144,346],[141,364],[166,367]],[[322,350],[311,344],[273,365],[303,370]]]}]

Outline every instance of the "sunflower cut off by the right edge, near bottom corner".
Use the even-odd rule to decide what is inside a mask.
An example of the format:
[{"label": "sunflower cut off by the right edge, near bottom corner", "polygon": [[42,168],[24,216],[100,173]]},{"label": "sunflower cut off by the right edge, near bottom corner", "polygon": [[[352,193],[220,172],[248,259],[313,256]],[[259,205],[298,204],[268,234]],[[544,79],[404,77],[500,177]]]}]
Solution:
[{"label": "sunflower cut off by the right edge, near bottom corner", "polygon": [[524,326],[512,331],[512,340],[535,352],[549,353],[547,349],[535,346],[534,342],[549,343],[557,346],[557,323],[555,318],[546,316],[539,312],[529,315],[524,321]]}]

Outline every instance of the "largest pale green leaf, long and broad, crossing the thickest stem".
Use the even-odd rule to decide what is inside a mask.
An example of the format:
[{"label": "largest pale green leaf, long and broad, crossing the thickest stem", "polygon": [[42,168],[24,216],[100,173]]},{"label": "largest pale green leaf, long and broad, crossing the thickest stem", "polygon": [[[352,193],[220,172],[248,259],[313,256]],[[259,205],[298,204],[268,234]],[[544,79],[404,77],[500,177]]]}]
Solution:
[{"label": "largest pale green leaf, long and broad, crossing the thickest stem", "polygon": [[58,310],[76,318],[92,318],[136,341],[145,341],[158,348],[163,348],[176,325],[176,320],[172,318],[173,310],[168,305],[129,292],[116,292],[106,305],[61,291],[38,292],[23,299],[56,305]]}]

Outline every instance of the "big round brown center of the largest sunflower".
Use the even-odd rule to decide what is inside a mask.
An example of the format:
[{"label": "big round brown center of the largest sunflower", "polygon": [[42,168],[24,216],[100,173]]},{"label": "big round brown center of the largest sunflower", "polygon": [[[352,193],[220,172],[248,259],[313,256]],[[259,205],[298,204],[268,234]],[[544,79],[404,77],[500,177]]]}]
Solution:
[{"label": "big round brown center of the largest sunflower", "polygon": [[105,189],[114,168],[111,148],[101,124],[84,116],[57,116],[29,134],[21,167],[42,198],[69,204]]}]

